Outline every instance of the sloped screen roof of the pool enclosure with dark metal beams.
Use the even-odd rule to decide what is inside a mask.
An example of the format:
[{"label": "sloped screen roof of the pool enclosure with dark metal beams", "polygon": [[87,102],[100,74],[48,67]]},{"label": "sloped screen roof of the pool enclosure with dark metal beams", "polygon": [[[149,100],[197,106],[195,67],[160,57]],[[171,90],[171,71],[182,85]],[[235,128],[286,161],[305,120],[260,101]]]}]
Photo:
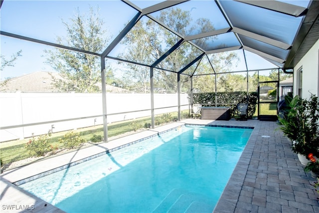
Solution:
[{"label": "sloped screen roof of the pool enclosure with dark metal beams", "polygon": [[[52,2],[63,7],[63,1],[29,1],[28,5],[34,7],[34,4],[43,4],[45,8],[50,7],[49,4]],[[83,1],[73,1],[73,4],[76,5],[76,2],[83,3]],[[105,4],[106,8],[118,10],[118,16],[113,17],[118,21],[111,20],[112,23],[118,25],[114,26],[118,33],[111,37],[103,52],[92,52],[81,46],[57,44],[49,37],[36,34],[39,29],[32,31],[32,27],[37,26],[36,23],[30,26],[29,31],[23,31],[18,24],[16,26],[2,24],[2,21],[5,22],[2,18],[1,35],[190,76],[202,74],[196,71],[196,68],[200,66],[200,61],[208,61],[211,64],[212,73],[218,72],[214,70],[212,55],[230,51],[236,51],[245,59],[246,65],[240,71],[252,69],[247,66],[248,55],[251,53],[267,60],[274,67],[290,69],[319,38],[319,1],[316,0],[118,0],[98,2]],[[5,12],[5,9],[6,6],[1,0],[1,13]],[[184,23],[179,24],[174,21],[172,14],[176,11],[179,11],[179,15],[185,16]],[[39,19],[42,18],[39,16]],[[161,52],[136,61],[134,58],[122,56],[123,51],[127,49],[123,40],[129,39],[130,32],[135,30],[138,24],[143,25],[145,29],[141,33],[142,39],[151,40],[150,37],[156,33],[157,45],[160,45]],[[167,43],[167,37],[173,43]],[[173,67],[172,63],[169,65],[168,61],[176,60],[172,56],[173,53],[181,49],[183,49],[182,54],[185,58],[183,63],[179,67]],[[136,47],[136,51],[141,50]]]}]

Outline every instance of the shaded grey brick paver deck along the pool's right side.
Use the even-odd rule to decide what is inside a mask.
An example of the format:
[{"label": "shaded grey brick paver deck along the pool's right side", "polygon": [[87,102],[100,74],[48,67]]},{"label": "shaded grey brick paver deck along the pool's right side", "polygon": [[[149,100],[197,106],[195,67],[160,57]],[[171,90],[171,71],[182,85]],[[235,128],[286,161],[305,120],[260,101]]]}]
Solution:
[{"label": "shaded grey brick paver deck along the pool's right side", "polygon": [[276,129],[276,122],[256,123],[214,213],[319,213],[315,179]]}]

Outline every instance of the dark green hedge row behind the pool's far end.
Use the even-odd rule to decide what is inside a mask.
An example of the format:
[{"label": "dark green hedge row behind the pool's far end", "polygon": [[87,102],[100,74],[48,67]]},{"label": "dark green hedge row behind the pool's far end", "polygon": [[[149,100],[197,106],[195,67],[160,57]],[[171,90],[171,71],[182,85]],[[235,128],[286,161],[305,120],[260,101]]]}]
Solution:
[{"label": "dark green hedge row behind the pool's far end", "polygon": [[[217,106],[230,107],[231,117],[238,115],[237,104],[247,103],[247,92],[213,92],[194,93],[194,104],[202,104],[203,106],[215,106],[215,97]],[[248,93],[248,114],[247,118],[252,118],[256,112],[257,92]]]}]

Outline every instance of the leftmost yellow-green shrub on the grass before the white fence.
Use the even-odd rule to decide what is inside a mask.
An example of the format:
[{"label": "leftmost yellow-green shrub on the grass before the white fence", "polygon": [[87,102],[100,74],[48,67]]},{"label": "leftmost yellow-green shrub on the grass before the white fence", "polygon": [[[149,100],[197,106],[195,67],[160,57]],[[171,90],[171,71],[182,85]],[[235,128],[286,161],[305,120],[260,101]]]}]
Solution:
[{"label": "leftmost yellow-green shrub on the grass before the white fence", "polygon": [[54,149],[57,149],[50,145],[48,138],[51,136],[51,133],[48,132],[48,134],[40,135],[37,138],[35,138],[32,134],[32,139],[30,139],[26,145],[25,148],[29,152],[31,156],[44,156],[46,153],[53,151]]}]

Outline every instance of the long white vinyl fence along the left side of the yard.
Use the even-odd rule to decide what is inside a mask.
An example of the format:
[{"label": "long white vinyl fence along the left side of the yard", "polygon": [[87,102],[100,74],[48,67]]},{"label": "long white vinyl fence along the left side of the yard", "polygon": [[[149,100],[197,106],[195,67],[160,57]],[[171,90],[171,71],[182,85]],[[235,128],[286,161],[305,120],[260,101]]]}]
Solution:
[{"label": "long white vinyl fence along the left side of the yard", "polygon": [[[108,123],[151,116],[150,94],[107,93],[106,100]],[[156,115],[176,112],[177,94],[154,94],[154,104]],[[189,109],[187,94],[180,104]],[[100,125],[102,110],[101,93],[0,93],[0,142]]]}]

